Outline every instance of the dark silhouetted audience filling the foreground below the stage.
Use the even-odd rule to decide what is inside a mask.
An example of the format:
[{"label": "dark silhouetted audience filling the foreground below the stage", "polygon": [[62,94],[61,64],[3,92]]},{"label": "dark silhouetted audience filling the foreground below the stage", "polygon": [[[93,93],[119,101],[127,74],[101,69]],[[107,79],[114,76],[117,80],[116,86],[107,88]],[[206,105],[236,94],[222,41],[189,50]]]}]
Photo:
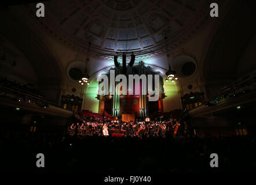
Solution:
[{"label": "dark silhouetted audience filling the foreground below the stage", "polygon": [[[45,172],[244,172],[256,167],[251,136],[116,138],[2,130],[0,149],[1,171],[39,171],[38,153],[45,155]],[[210,168],[211,153],[218,154],[220,168]]]}]

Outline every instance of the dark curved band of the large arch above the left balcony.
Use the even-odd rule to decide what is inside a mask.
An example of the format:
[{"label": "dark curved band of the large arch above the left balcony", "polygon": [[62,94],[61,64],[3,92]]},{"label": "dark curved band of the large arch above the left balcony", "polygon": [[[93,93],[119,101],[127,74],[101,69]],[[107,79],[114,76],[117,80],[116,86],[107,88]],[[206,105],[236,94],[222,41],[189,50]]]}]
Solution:
[{"label": "dark curved band of the large arch above the left balcony", "polygon": [[58,103],[63,73],[56,58],[53,57],[52,51],[47,47],[46,41],[36,35],[36,32],[32,32],[31,28],[16,20],[11,14],[8,14],[8,17],[6,19],[1,16],[1,22],[5,27],[1,28],[0,34],[30,62],[31,68],[34,69],[38,78],[39,92]]}]

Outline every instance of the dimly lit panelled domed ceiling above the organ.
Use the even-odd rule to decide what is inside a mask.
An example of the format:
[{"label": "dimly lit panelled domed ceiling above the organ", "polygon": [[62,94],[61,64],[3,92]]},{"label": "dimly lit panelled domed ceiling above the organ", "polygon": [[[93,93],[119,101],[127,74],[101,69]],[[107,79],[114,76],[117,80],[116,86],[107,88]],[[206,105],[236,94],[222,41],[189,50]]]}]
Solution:
[{"label": "dimly lit panelled domed ceiling above the organ", "polygon": [[[173,49],[196,32],[209,14],[200,0],[56,0],[45,1],[38,21],[35,5],[27,9],[36,23],[79,51],[113,56]],[[166,39],[164,39],[166,38]]]}]

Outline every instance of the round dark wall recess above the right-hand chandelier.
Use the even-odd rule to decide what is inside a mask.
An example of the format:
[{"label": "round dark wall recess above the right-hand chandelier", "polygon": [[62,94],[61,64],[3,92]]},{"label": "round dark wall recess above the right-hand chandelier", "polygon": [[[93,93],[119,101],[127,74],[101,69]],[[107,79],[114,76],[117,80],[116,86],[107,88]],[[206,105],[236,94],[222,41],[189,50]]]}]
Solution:
[{"label": "round dark wall recess above the right-hand chandelier", "polygon": [[191,56],[181,55],[171,61],[173,70],[177,72],[177,76],[187,78],[193,76],[196,72],[196,61]]}]

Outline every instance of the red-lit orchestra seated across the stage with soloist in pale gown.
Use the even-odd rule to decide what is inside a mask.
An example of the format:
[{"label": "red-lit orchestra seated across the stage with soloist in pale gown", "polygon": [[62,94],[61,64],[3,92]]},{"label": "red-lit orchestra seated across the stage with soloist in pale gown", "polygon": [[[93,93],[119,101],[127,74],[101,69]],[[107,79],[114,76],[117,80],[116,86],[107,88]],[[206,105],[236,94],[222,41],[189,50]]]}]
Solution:
[{"label": "red-lit orchestra seated across the stage with soloist in pale gown", "polygon": [[[93,121],[93,122],[89,122]],[[90,119],[88,122],[83,121],[80,125],[77,123],[71,124],[69,127],[70,135],[104,135],[122,134],[122,136],[160,136],[166,137],[166,134],[172,136],[185,136],[188,132],[188,125],[184,122],[182,124],[176,121],[173,125],[173,121],[130,121],[122,122],[115,121],[103,121],[99,117]],[[182,125],[182,126],[181,126]],[[181,130],[182,129],[182,130]]]}]

